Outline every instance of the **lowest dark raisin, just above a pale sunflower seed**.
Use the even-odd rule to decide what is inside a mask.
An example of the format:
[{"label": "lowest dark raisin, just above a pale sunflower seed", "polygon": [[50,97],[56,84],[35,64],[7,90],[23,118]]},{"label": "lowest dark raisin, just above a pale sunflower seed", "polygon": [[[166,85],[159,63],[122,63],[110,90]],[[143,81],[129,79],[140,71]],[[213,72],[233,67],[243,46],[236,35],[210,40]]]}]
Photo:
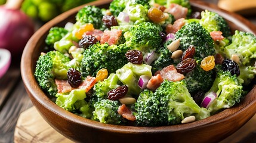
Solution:
[{"label": "lowest dark raisin, just above a pale sunflower seed", "polygon": [[107,93],[107,99],[109,100],[118,100],[121,97],[124,97],[128,92],[128,86],[118,86],[116,89],[112,89]]}]

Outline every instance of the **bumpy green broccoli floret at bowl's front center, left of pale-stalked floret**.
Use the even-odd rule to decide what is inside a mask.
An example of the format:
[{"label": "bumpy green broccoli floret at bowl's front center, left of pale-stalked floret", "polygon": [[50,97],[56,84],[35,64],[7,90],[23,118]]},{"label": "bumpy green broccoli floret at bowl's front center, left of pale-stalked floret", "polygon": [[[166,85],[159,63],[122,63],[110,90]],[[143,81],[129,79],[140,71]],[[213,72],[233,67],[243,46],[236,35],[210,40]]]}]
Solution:
[{"label": "bumpy green broccoli floret at bowl's front center, left of pale-stalked floret", "polygon": [[135,102],[135,117],[137,126],[166,125],[166,120],[161,117],[160,97],[152,91],[145,89]]}]

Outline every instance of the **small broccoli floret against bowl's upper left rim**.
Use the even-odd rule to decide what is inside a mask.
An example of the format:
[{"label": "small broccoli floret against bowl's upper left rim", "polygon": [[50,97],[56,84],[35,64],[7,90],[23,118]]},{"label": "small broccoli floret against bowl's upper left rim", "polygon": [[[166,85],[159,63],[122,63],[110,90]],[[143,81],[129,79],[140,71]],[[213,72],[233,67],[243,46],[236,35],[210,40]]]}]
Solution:
[{"label": "small broccoli floret against bowl's upper left rim", "polygon": [[53,47],[54,43],[60,41],[60,39],[63,38],[67,32],[68,31],[63,27],[52,27],[49,30],[47,38],[45,39],[45,43],[48,46]]}]

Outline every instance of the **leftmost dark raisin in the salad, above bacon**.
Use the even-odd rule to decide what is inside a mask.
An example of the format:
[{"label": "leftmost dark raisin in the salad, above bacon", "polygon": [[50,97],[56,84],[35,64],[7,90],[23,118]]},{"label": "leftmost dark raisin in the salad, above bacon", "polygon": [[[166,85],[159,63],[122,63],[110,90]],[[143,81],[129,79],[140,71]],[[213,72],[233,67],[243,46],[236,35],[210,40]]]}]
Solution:
[{"label": "leftmost dark raisin in the salad, above bacon", "polygon": [[78,88],[79,85],[82,83],[82,74],[80,71],[70,68],[67,71],[67,82],[72,88]]}]

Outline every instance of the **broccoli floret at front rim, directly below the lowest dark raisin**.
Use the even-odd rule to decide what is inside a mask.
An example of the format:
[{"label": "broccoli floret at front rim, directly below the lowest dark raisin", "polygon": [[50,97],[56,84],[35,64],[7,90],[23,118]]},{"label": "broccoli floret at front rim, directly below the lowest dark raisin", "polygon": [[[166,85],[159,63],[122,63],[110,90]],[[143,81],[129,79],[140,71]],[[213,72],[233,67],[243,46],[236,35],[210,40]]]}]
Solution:
[{"label": "broccoli floret at front rim, directly below the lowest dark raisin", "polygon": [[118,114],[118,107],[120,103],[112,100],[100,100],[94,104],[95,110],[93,113],[93,120],[101,123],[120,125],[122,116]]}]

